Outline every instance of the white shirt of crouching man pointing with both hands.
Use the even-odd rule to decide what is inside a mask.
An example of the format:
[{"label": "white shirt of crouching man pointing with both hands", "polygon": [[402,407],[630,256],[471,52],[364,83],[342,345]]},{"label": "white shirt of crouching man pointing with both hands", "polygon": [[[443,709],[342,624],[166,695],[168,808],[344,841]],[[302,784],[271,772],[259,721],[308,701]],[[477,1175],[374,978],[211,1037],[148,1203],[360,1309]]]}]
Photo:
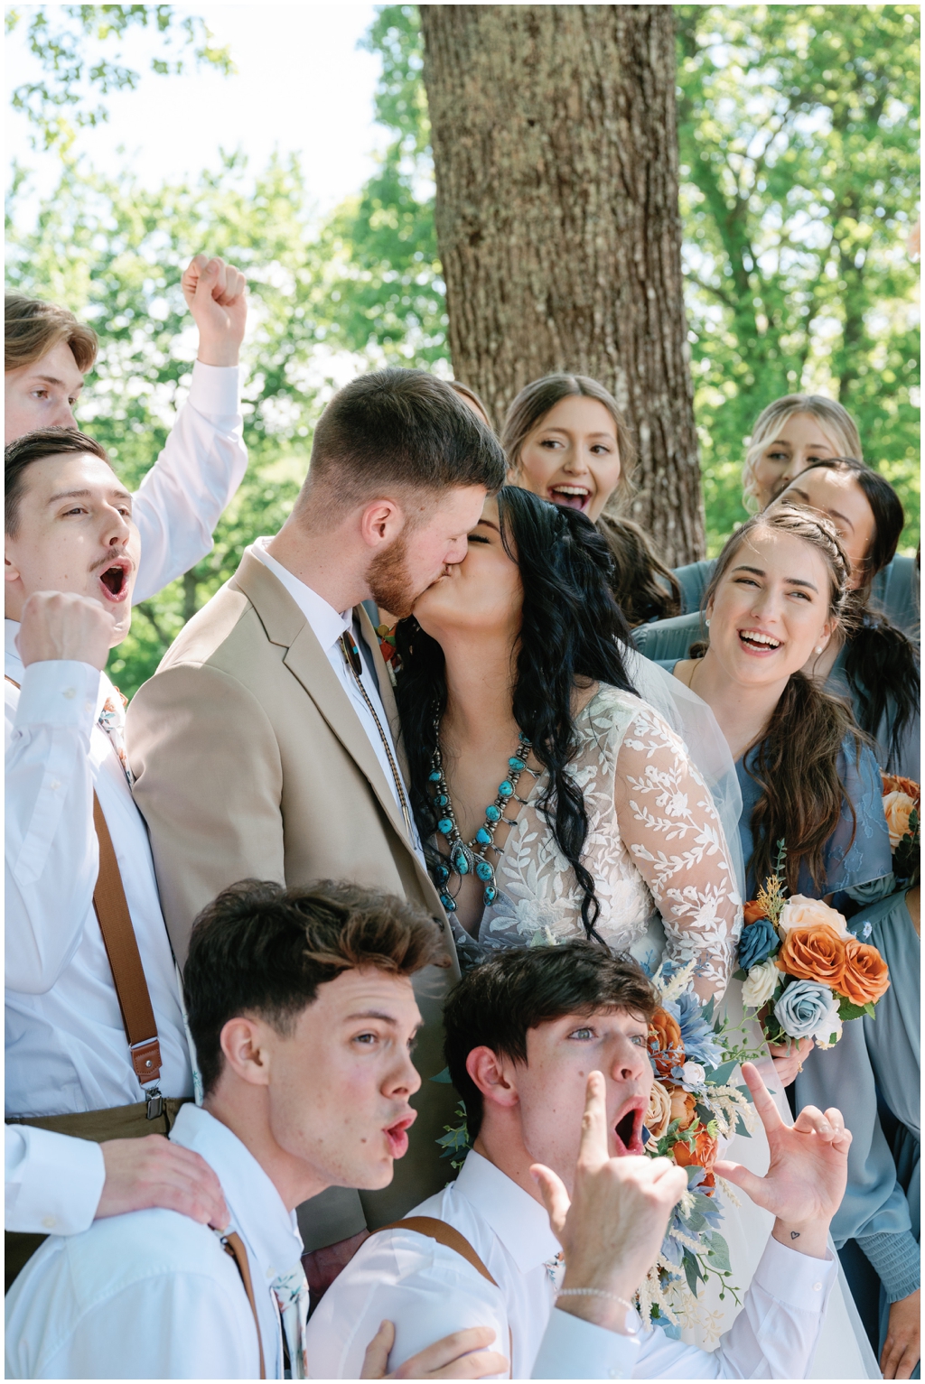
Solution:
[{"label": "white shirt of crouching man pointing with both hands", "polygon": [[708,1352],[669,1340],[661,1327],[620,1336],[557,1309],[547,1264],[559,1246],[543,1205],[478,1153],[408,1215],[460,1230],[497,1287],[425,1236],[374,1235],[309,1322],[314,1376],[357,1378],[366,1347],[388,1319],[392,1370],[450,1331],[490,1326],[493,1349],[507,1355],[512,1344],[512,1378],[805,1378],[836,1276],[834,1261],[770,1240],[739,1316]]}]

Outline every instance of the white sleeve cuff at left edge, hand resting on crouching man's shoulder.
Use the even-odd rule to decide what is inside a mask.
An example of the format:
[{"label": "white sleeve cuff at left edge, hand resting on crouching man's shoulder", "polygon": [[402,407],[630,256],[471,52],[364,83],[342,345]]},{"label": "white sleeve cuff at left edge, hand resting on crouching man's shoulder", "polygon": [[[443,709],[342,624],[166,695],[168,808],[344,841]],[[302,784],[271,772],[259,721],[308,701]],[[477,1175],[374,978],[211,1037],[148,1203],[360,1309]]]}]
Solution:
[{"label": "white sleeve cuff at left edge, hand resting on crouching man's shoulder", "polygon": [[107,1178],[100,1145],[29,1125],[7,1125],[4,1135],[7,1230],[86,1230]]}]

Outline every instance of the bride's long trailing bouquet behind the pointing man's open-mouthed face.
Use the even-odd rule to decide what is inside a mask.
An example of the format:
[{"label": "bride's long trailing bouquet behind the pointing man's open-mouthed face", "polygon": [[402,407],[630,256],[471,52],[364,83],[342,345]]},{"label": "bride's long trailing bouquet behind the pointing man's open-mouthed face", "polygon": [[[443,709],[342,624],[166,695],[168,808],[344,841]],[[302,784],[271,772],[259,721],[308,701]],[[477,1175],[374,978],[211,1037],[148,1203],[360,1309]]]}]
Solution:
[{"label": "bride's long trailing bouquet behind the pointing man's open-mouthed face", "polygon": [[[687,1169],[687,1192],[674,1207],[659,1257],[638,1293],[644,1322],[658,1322],[677,1337],[701,1320],[698,1297],[710,1277],[720,1279],[720,1298],[730,1283],[728,1246],[720,1235],[720,1190],[735,1193],[715,1172],[719,1140],[749,1135],[755,1111],[745,1086],[730,1085],[735,1067],[759,1056],[735,1045],[726,1021],[715,1021],[692,988],[695,962],[683,969],[663,963],[652,977],[661,1006],[649,1024],[649,1060],[655,1071],[644,1120],[645,1150]],[[705,1320],[701,1324],[708,1324]]]}]

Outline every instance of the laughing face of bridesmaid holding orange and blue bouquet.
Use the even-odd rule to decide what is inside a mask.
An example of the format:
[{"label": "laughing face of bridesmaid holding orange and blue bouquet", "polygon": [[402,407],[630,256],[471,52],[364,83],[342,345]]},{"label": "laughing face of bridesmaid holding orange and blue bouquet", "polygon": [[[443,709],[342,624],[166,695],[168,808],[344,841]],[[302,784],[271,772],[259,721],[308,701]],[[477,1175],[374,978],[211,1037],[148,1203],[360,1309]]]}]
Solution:
[{"label": "laughing face of bridesmaid holding orange and blue bouquet", "polygon": [[788,678],[832,635],[831,590],[828,565],[810,543],[755,529],[708,608],[710,655],[745,686]]}]

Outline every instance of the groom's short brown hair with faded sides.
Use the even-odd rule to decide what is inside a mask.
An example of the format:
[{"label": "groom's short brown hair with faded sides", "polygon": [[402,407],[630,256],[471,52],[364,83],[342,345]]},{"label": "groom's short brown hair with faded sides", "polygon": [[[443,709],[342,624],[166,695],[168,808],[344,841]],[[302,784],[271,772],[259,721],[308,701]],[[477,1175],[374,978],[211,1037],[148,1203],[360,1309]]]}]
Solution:
[{"label": "groom's short brown hair with faded sides", "polygon": [[446,381],[424,370],[377,370],[345,385],[318,418],[296,512],[318,483],[346,511],[395,489],[485,486],[494,494],[505,475],[500,441]]}]

